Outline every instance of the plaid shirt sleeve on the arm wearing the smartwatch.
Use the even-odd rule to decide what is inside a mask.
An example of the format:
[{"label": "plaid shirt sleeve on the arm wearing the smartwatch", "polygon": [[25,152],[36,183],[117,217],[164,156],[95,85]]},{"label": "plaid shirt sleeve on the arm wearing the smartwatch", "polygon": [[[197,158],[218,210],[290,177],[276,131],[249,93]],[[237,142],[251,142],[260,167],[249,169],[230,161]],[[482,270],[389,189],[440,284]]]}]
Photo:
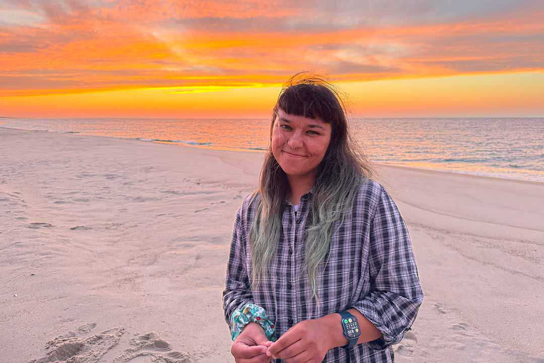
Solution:
[{"label": "plaid shirt sleeve on the arm wearing the smartwatch", "polygon": [[370,225],[370,293],[353,306],[381,331],[373,349],[399,343],[423,302],[410,235],[391,196],[381,187]]}]

